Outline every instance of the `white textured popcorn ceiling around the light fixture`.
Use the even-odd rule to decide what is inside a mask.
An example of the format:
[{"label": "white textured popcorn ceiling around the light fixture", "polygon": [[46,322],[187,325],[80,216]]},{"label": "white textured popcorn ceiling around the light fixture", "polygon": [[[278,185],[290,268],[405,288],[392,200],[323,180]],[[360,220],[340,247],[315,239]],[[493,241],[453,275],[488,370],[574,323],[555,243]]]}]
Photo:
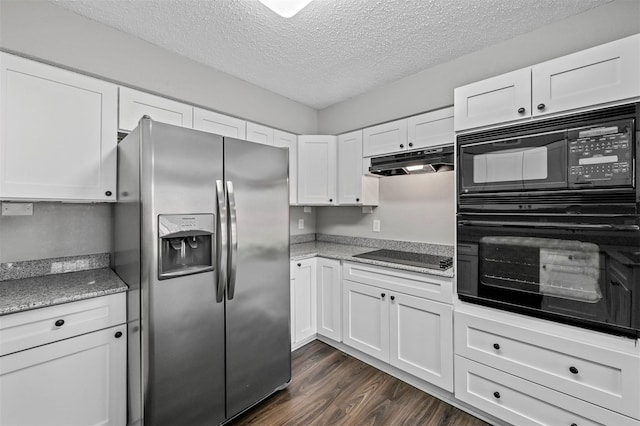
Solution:
[{"label": "white textured popcorn ceiling around the light fixture", "polygon": [[49,0],[322,109],[611,0]]}]

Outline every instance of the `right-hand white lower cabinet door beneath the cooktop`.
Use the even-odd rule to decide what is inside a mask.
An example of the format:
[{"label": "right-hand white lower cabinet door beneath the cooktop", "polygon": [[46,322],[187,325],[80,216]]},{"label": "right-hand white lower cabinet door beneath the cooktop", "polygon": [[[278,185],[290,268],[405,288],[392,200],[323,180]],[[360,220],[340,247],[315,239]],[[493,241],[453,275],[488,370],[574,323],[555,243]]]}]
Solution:
[{"label": "right-hand white lower cabinet door beneath the cooktop", "polygon": [[391,293],[391,365],[453,392],[453,309]]}]

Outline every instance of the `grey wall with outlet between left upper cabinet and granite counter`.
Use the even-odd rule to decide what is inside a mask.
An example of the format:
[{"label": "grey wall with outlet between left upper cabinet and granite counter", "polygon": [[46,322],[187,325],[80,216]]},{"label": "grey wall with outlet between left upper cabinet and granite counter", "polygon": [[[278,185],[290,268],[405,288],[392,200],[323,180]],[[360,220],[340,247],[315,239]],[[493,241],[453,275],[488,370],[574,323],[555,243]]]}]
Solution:
[{"label": "grey wall with outlet between left upper cabinet and granite counter", "polygon": [[0,263],[111,253],[111,204],[33,203],[33,216],[0,216]]}]

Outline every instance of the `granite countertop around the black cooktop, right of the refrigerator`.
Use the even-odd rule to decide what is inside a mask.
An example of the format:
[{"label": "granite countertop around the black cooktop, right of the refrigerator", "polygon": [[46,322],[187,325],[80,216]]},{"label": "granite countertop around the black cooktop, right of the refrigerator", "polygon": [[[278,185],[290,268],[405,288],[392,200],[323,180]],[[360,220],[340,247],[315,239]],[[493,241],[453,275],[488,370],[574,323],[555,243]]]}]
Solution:
[{"label": "granite countertop around the black cooktop, right of the refrigerator", "polygon": [[347,260],[350,262],[367,263],[376,266],[386,266],[388,268],[402,269],[405,271],[420,272],[424,274],[438,275],[441,277],[453,277],[453,269],[446,270],[420,268],[417,266],[403,265],[400,263],[382,262],[379,260],[363,259],[353,257],[356,254],[366,253],[368,251],[377,250],[375,247],[363,247],[348,244],[338,244],[324,241],[312,241],[306,243],[291,244],[289,253],[291,260],[302,260],[319,256],[329,259]]}]

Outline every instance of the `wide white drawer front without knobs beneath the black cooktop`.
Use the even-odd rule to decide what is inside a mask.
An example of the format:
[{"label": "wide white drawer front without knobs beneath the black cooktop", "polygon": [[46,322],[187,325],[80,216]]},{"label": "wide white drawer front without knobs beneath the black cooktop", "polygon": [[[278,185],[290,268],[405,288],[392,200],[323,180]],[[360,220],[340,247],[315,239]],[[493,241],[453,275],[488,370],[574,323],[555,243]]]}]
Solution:
[{"label": "wide white drawer front without knobs beneath the black cooktop", "polygon": [[453,279],[401,269],[384,268],[362,263],[343,262],[345,280],[386,288],[391,291],[451,303]]}]

